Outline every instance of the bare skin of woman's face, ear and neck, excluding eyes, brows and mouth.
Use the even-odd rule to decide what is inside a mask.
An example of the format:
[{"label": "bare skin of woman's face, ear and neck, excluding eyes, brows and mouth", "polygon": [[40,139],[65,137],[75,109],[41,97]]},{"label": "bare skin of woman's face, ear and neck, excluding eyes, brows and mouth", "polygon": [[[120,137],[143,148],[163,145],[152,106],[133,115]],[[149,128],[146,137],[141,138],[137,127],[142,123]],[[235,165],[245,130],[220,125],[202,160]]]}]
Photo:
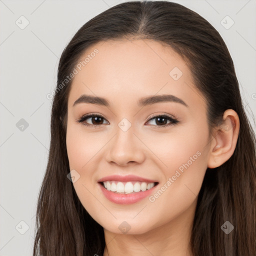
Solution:
[{"label": "bare skin of woman's face, ear and neck, excluding eyes, brows and mouth", "polygon": [[[188,243],[203,177],[207,167],[217,167],[232,155],[238,116],[227,109],[223,126],[209,135],[204,97],[170,47],[153,40],[105,41],[88,48],[81,59],[94,48],[99,52],[74,76],[69,92],[66,148],[70,170],[80,175],[73,183],[77,196],[104,228],[104,256],[192,255]],[[177,80],[169,75],[173,67],[183,73]],[[73,106],[81,94],[104,97],[110,106]],[[177,102],[137,105],[141,97],[155,94],[175,95],[188,107]],[[76,121],[87,113],[103,115],[103,124],[95,128]],[[156,118],[149,121],[152,114],[164,113],[179,122],[160,127]],[[125,132],[118,126],[122,118],[131,124]],[[86,122],[96,123],[95,118]],[[106,175],[134,174],[158,180],[160,188],[197,151],[200,156],[153,202],[146,197],[116,204],[98,187],[97,180]],[[118,228],[123,221],[130,226],[125,234]]]}]

